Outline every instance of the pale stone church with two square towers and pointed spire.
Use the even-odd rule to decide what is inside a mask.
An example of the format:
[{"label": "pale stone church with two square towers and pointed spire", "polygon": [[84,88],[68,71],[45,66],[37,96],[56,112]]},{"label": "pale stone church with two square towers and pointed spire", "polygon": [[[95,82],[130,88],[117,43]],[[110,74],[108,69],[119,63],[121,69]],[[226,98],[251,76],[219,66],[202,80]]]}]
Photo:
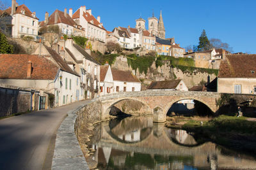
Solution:
[{"label": "pale stone church with two square towers and pointed spire", "polygon": [[[136,29],[146,30],[145,27],[146,21],[143,18],[138,18],[136,20]],[[159,38],[165,38],[165,29],[164,29],[164,22],[162,17],[162,11],[160,12],[159,20],[154,16],[148,18],[148,31],[154,35],[158,36]]]}]

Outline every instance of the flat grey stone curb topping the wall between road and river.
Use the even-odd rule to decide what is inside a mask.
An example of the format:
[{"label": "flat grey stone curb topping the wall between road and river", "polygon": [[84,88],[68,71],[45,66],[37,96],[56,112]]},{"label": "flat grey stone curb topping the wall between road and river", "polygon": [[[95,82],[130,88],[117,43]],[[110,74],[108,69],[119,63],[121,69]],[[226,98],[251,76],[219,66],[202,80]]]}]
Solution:
[{"label": "flat grey stone curb topping the wall between road and river", "polygon": [[88,164],[81,151],[74,132],[74,124],[76,122],[77,113],[83,110],[86,102],[75,110],[68,111],[68,116],[61,123],[56,134],[56,142],[54,155],[52,158],[52,169],[89,169]]}]

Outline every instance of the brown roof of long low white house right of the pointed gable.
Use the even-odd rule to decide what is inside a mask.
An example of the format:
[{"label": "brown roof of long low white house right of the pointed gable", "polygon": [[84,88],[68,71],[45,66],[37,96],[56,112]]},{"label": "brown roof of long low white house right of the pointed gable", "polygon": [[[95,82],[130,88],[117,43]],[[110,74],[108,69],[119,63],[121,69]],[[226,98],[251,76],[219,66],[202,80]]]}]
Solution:
[{"label": "brown roof of long low white house right of the pointed gable", "polygon": [[140,80],[136,76],[134,76],[130,71],[121,71],[118,69],[111,69],[113,74],[114,81],[127,81],[127,82],[138,82],[141,83]]}]

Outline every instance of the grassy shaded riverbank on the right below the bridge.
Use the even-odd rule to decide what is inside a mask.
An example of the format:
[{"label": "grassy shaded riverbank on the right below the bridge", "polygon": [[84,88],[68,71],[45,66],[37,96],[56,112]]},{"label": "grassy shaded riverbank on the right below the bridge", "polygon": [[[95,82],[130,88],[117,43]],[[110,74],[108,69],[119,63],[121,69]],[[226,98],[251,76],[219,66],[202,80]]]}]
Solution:
[{"label": "grassy shaded riverbank on the right below the bridge", "polygon": [[248,121],[246,117],[171,117],[166,127],[193,132],[199,143],[212,141],[228,148],[256,153],[256,122]]}]

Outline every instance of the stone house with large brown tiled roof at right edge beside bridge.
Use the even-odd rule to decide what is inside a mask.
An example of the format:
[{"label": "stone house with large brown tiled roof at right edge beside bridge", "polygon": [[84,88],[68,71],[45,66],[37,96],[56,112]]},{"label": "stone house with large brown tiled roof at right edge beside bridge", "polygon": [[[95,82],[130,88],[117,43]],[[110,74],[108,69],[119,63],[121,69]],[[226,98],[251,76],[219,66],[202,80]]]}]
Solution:
[{"label": "stone house with large brown tiled roof at right edge beside bridge", "polygon": [[256,94],[256,55],[226,55],[221,60],[218,74],[218,92]]}]

